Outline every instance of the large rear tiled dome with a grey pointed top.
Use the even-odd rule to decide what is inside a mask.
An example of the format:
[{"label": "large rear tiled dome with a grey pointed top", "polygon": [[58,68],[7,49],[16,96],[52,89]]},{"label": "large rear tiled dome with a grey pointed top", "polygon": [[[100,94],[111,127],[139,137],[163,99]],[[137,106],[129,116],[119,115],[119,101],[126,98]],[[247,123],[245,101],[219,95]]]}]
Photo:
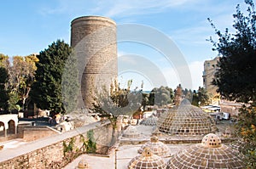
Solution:
[{"label": "large rear tiled dome with a grey pointed top", "polygon": [[166,111],[157,122],[160,132],[171,134],[207,134],[216,132],[212,117],[201,108],[191,105],[188,99]]}]

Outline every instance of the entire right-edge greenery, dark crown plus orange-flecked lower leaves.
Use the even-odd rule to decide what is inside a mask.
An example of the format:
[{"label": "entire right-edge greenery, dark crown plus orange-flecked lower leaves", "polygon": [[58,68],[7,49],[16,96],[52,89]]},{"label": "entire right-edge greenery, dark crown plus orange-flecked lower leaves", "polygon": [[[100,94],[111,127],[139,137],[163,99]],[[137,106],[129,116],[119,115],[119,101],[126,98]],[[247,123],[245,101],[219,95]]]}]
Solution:
[{"label": "entire right-edge greenery, dark crown plus orange-flecked lower leaves", "polygon": [[251,103],[240,110],[237,134],[244,139],[241,152],[246,157],[247,168],[255,168],[256,14],[253,1],[246,0],[245,3],[248,6],[247,14],[241,12],[239,4],[236,6],[236,14],[233,14],[234,34],[230,34],[228,29],[224,33],[218,31],[210,20],[218,35],[218,42],[210,39],[213,50],[222,55],[212,84],[218,87],[218,92],[225,99]]}]

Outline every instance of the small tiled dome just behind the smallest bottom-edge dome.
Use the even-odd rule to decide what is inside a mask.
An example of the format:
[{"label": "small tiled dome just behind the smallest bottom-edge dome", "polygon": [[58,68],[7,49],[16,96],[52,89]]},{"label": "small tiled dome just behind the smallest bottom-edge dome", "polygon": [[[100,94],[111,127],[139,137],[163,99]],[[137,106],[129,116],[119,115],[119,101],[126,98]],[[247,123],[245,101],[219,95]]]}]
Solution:
[{"label": "small tiled dome just behind the smallest bottom-edge dome", "polygon": [[169,147],[166,144],[160,142],[156,136],[153,136],[152,138],[150,138],[149,142],[143,144],[142,147],[137,150],[138,153],[143,153],[143,150],[146,147],[150,148],[154,155],[159,155],[162,157],[170,155]]}]

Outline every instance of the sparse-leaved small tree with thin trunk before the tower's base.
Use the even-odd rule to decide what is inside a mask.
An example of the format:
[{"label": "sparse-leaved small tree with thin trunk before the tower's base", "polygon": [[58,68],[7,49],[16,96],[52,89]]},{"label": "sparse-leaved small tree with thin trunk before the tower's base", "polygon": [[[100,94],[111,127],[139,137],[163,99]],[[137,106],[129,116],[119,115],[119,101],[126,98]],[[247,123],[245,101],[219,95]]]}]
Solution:
[{"label": "sparse-leaved small tree with thin trunk before the tower's base", "polygon": [[102,87],[96,92],[94,103],[90,110],[108,118],[112,127],[112,140],[110,146],[116,141],[116,127],[120,115],[133,115],[141,106],[142,90],[131,90],[132,81],[127,82],[126,88],[120,88],[118,82],[113,82],[110,90]]}]

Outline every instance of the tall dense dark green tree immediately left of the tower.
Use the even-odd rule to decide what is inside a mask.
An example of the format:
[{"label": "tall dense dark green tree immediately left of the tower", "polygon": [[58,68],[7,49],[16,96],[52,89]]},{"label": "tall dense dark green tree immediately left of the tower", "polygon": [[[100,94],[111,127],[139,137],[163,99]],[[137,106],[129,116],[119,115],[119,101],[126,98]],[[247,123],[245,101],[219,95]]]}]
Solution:
[{"label": "tall dense dark green tree immediately left of the tower", "polygon": [[42,110],[52,114],[65,113],[61,95],[61,77],[72,48],[57,40],[38,55],[36,82],[32,85],[32,100]]}]

